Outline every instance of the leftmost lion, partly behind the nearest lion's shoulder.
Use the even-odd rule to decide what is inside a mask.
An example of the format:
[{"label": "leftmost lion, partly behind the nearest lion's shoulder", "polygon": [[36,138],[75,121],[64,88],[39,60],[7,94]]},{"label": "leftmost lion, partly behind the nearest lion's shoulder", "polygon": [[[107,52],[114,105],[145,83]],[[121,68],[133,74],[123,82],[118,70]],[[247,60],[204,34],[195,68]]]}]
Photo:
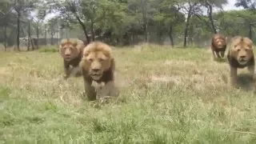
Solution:
[{"label": "leftmost lion, partly behind the nearest lion's shoulder", "polygon": [[82,51],[86,45],[77,38],[63,38],[59,45],[59,52],[64,60],[64,78],[70,74],[78,77],[82,75],[79,63],[82,60]]}]

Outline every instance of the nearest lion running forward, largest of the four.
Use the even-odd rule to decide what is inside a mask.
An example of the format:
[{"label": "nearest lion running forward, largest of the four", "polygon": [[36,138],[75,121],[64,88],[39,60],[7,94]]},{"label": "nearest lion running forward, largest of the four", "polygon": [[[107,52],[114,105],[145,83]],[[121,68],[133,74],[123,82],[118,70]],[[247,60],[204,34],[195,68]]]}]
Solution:
[{"label": "nearest lion running forward, largest of the four", "polygon": [[118,96],[114,86],[115,61],[112,49],[104,42],[91,42],[83,51],[82,76],[90,101]]}]

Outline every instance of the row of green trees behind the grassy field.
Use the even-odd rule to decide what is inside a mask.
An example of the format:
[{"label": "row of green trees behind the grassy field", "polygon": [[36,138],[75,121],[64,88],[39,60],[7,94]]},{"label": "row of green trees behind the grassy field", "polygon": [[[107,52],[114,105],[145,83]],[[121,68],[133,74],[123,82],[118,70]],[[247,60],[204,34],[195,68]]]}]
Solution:
[{"label": "row of green trees behind the grassy field", "polygon": [[[19,3],[18,3],[19,2]],[[1,42],[12,45],[14,37],[43,34],[42,20],[53,35],[59,28],[80,29],[84,40],[100,39],[113,45],[166,41],[170,45],[200,45],[220,32],[231,37],[256,34],[256,2],[237,0],[244,10],[224,11],[226,0],[48,0],[0,2]],[[215,12],[218,11],[218,12]],[[31,26],[28,24],[31,22]],[[32,28],[31,28],[32,27]],[[30,30],[31,29],[31,30]],[[256,25],[255,25],[256,29]],[[10,42],[11,41],[11,42]]]}]

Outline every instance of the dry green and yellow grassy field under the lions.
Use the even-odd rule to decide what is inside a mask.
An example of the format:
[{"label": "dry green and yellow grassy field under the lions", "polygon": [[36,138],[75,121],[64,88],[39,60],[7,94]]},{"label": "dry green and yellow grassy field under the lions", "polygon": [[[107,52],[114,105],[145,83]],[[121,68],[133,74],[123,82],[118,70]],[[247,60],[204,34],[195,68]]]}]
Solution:
[{"label": "dry green and yellow grassy field under the lions", "polygon": [[208,49],[114,49],[121,94],[88,102],[82,78],[63,80],[58,52],[0,52],[0,143],[256,143],[248,71]]}]

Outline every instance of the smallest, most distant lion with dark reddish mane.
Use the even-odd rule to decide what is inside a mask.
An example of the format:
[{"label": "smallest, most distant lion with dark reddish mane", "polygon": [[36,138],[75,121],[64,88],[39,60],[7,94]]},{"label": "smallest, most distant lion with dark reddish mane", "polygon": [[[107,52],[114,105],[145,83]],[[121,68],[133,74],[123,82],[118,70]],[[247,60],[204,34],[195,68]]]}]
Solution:
[{"label": "smallest, most distant lion with dark reddish mane", "polygon": [[224,58],[226,51],[226,38],[222,34],[214,34],[211,38],[211,50],[214,58]]}]

